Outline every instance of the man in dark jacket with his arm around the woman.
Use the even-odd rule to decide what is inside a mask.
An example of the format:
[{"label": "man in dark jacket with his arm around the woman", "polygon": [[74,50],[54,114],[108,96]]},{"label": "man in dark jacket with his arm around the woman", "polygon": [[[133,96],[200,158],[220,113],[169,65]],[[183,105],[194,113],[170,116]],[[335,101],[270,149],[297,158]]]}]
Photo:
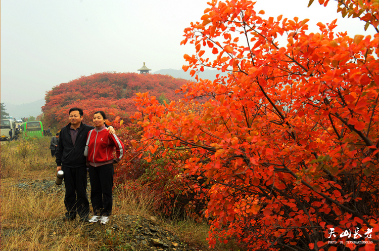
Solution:
[{"label": "man in dark jacket with his arm around the woman", "polygon": [[[87,166],[86,157],[83,155],[87,140],[87,133],[94,127],[82,123],[83,110],[77,107],[69,111],[69,121],[61,129],[58,147],[55,152],[57,172],[64,172],[65,181],[65,207],[67,210],[65,219],[74,220],[76,214],[84,222],[88,221],[89,202],[87,199]],[[114,134],[113,127],[109,127],[109,133]]]}]

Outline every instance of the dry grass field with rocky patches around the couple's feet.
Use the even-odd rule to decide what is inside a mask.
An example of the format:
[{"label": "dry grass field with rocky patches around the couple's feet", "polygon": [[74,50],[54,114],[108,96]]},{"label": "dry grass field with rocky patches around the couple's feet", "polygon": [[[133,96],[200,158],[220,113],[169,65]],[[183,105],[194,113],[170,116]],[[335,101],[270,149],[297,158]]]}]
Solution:
[{"label": "dry grass field with rocky patches around the couple's feet", "polygon": [[[161,218],[151,210],[155,198],[133,191],[114,189],[109,225],[63,221],[64,185],[54,183],[49,144],[50,137],[1,144],[1,250],[239,250],[230,243],[209,249],[206,224]],[[146,224],[173,236],[165,237],[172,245],[137,235]]]}]

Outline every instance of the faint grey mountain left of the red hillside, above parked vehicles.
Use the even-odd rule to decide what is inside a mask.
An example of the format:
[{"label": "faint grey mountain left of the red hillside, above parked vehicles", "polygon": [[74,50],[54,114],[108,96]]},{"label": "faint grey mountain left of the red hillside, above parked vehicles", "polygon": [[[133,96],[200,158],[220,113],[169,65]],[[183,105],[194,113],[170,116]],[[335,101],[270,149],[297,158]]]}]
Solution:
[{"label": "faint grey mountain left of the red hillside, above parked vehicles", "polygon": [[45,104],[44,99],[20,105],[4,103],[6,112],[12,117],[38,116],[42,113],[41,107]]}]

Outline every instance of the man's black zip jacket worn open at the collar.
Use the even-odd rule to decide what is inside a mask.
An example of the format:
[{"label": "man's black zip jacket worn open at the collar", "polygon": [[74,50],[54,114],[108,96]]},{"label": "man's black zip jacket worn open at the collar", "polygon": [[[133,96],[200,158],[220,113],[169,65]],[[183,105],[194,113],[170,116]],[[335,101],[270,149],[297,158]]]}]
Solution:
[{"label": "man's black zip jacket worn open at the collar", "polygon": [[72,144],[70,134],[71,123],[62,128],[59,133],[58,147],[55,153],[57,166],[67,166],[68,168],[79,168],[86,166],[86,157],[83,155],[87,134],[94,129],[90,125],[80,123],[79,132],[77,133],[75,146]]}]

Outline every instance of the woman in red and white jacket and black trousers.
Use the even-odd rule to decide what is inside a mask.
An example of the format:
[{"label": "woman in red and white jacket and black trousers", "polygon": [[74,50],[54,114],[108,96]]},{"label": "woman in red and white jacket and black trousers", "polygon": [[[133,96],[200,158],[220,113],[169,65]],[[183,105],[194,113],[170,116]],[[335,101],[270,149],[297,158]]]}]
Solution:
[{"label": "woman in red and white jacket and black trousers", "polygon": [[[89,222],[100,221],[106,224],[112,213],[113,163],[123,157],[124,144],[115,134],[109,135],[105,127],[104,111],[93,114],[95,129],[88,132],[87,145],[89,163],[89,181],[91,184],[91,203],[93,217]],[[116,147],[116,158],[113,150]]]}]

